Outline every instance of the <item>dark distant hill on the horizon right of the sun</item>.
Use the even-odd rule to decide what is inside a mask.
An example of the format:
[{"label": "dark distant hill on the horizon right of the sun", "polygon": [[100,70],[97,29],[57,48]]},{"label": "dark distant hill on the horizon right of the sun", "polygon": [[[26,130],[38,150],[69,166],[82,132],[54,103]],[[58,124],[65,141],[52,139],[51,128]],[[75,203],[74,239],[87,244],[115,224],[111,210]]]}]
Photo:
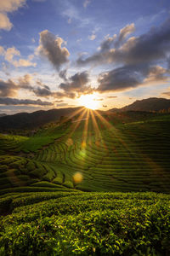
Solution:
[{"label": "dark distant hill on the horizon right of the sun", "polygon": [[164,98],[149,98],[141,101],[133,102],[130,105],[127,105],[123,108],[112,108],[111,112],[122,112],[122,111],[160,111],[160,110],[168,110],[170,108],[170,100]]}]

